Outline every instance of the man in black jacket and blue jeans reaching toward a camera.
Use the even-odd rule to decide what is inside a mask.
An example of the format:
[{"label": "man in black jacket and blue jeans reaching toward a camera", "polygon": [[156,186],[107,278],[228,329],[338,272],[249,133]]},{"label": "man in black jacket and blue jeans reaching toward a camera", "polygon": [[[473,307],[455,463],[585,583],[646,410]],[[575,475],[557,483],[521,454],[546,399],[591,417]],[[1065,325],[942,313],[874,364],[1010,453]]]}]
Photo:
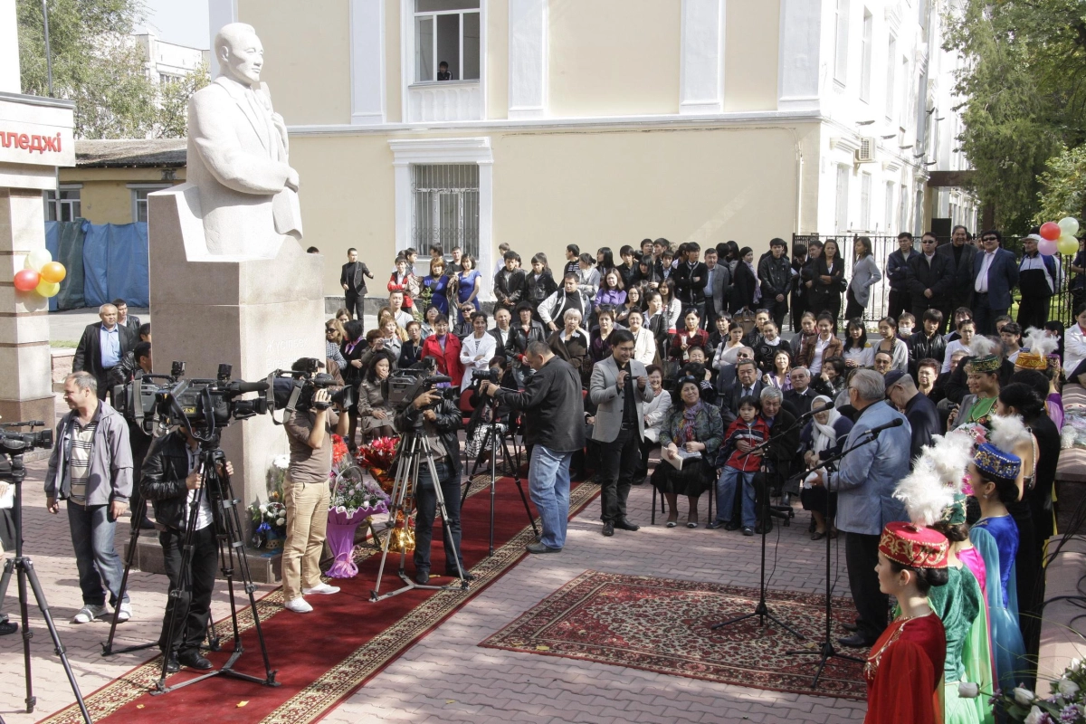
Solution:
[{"label": "man in black jacket and blue jeans reaching toward a camera", "polygon": [[545,342],[529,344],[525,359],[535,372],[523,392],[503,390],[493,382],[483,382],[481,390],[526,412],[525,443],[532,446],[528,490],[543,522],[540,541],[527,548],[531,554],[558,552],[569,522],[569,461],[584,447],[584,425],[570,424],[584,419],[581,373],[555,357]]}]

